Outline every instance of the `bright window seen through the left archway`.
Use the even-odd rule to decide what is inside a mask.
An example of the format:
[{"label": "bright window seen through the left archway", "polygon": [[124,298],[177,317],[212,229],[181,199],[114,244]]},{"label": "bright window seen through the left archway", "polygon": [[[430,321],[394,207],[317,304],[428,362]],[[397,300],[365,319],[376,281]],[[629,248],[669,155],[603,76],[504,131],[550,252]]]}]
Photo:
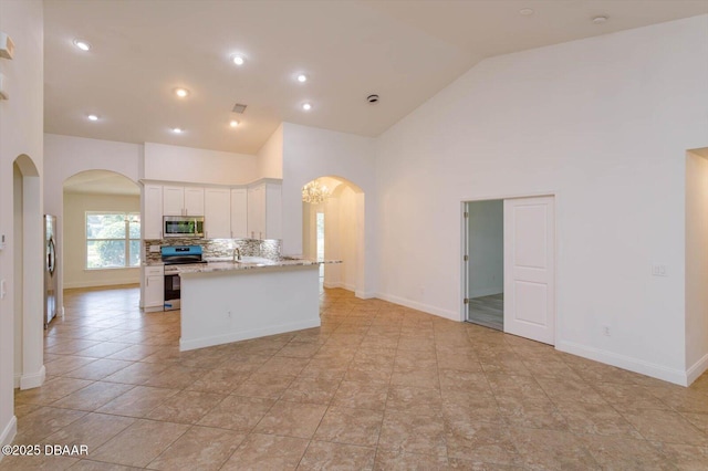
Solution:
[{"label": "bright window seen through the left archway", "polygon": [[140,213],[86,211],[86,269],[140,264]]}]

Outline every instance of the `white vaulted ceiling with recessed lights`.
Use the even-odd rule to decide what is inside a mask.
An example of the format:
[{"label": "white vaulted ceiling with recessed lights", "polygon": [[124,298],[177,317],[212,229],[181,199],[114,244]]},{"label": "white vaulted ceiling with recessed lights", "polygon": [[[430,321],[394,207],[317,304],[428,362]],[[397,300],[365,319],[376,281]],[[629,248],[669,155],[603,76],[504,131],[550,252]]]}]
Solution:
[{"label": "white vaulted ceiling with recessed lights", "polygon": [[376,136],[483,57],[702,13],[708,0],[44,0],[44,127],[244,154],[283,121]]}]

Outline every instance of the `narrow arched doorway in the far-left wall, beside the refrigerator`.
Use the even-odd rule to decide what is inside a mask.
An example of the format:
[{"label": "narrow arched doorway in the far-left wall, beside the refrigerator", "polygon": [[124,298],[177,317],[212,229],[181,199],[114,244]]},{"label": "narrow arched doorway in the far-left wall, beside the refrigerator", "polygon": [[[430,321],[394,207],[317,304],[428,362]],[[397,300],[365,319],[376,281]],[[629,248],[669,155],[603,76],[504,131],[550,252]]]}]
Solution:
[{"label": "narrow arched doorway in the far-left wall, beside the refrigerator", "polygon": [[42,189],[30,156],[20,155],[12,171],[14,386],[30,389],[41,386],[45,377]]}]

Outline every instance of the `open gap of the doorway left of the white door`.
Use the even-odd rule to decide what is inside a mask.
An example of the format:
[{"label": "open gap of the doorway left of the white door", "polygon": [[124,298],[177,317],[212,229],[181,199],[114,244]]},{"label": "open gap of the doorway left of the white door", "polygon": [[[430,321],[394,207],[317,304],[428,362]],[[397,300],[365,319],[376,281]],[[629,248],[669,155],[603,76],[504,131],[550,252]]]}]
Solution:
[{"label": "open gap of the doorway left of the white door", "polygon": [[504,329],[503,200],[465,203],[465,321]]}]

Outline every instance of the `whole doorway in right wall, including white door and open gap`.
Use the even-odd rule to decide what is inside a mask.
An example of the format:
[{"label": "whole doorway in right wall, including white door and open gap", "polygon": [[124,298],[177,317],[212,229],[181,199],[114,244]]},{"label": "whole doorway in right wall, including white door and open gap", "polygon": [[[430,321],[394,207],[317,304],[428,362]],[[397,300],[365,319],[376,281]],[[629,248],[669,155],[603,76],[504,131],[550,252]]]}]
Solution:
[{"label": "whole doorway in right wall, including white door and open gap", "polygon": [[555,197],[464,202],[464,318],[555,343]]}]

